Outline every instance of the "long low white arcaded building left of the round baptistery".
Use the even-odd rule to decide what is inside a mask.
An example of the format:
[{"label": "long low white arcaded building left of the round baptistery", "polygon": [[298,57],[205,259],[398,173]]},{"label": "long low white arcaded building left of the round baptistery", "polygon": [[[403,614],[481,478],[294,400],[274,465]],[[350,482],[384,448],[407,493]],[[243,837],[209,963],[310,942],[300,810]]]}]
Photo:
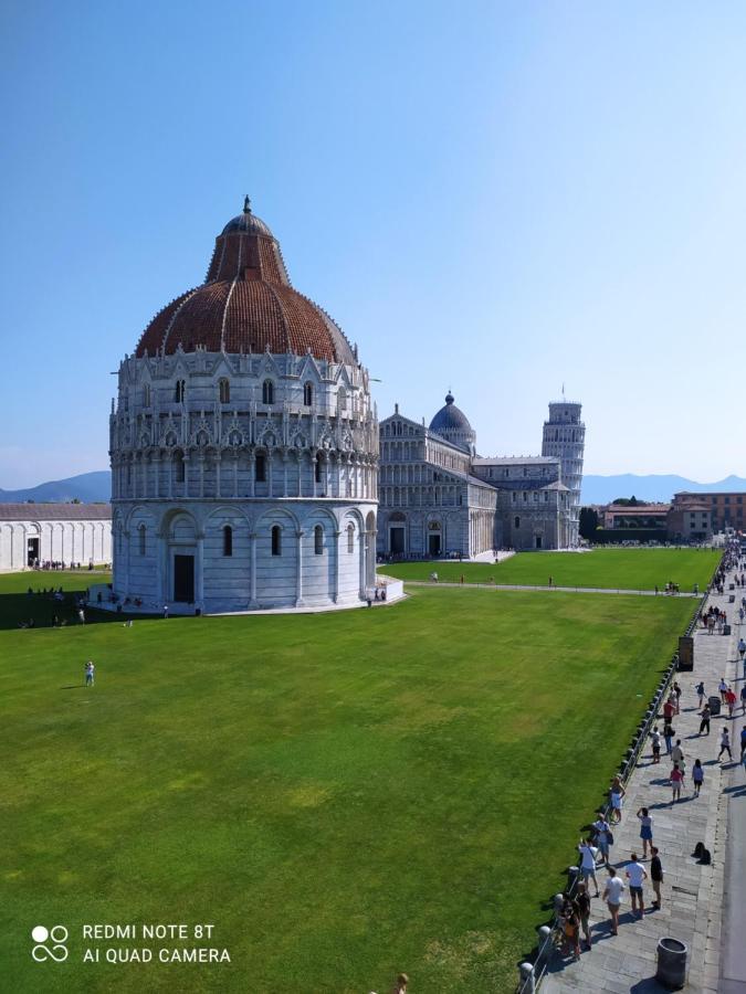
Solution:
[{"label": "long low white arcaded building left of the round baptistery", "polygon": [[0,504],[0,570],[112,561],[108,505]]}]

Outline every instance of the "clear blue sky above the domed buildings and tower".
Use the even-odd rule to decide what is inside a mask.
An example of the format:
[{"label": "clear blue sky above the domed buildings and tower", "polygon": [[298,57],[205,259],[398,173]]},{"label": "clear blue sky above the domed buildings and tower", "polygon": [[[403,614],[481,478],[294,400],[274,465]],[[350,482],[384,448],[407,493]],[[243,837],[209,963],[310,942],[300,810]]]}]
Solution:
[{"label": "clear blue sky above the domed buildings and tower", "polygon": [[106,468],[116,370],[250,193],[379,416],[746,475],[746,4],[0,11],[0,487]]}]

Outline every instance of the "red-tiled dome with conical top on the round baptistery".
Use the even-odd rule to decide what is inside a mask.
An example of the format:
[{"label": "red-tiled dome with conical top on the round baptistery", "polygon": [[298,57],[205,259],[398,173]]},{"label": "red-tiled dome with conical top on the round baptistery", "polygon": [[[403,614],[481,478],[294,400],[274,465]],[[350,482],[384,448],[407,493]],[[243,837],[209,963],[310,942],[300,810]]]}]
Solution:
[{"label": "red-tiled dome with conical top on the round baptistery", "polygon": [[294,290],[280,245],[251,213],[229,221],[216,239],[206,282],[172,300],[150,321],[136,355],[295,352],[356,366],[349,342],[321,307]]}]

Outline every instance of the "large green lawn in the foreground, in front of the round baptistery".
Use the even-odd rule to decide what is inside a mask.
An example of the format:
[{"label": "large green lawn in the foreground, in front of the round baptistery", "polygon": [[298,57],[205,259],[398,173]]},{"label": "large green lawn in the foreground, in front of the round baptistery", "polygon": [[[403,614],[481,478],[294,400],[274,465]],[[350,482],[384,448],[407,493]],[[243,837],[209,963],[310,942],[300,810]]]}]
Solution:
[{"label": "large green lawn in the foreground, in front of the round baptistery", "polygon": [[[512,990],[692,609],[421,589],[1,631],[3,988]],[[33,963],[57,922],[70,959]],[[93,922],[211,922],[232,963],[84,965]]]}]

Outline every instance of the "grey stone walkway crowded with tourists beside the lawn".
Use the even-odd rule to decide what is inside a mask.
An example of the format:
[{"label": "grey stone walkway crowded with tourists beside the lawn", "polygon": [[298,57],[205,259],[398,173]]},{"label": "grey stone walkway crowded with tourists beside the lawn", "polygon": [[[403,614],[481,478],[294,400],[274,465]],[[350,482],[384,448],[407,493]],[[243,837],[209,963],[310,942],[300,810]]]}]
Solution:
[{"label": "grey stone walkway crowded with tourists beside the lawn", "polygon": [[[740,592],[737,600],[740,600]],[[711,595],[707,604],[715,604],[728,613],[729,621],[737,621],[737,607],[728,603],[727,583],[724,596]],[[694,672],[679,675],[682,687],[681,715],[674,718],[675,737],[681,738],[686,759],[686,784],[682,801],[671,805],[671,787],[668,775],[671,763],[661,755],[660,765],[652,764],[651,750],[643,749],[640,762],[627,785],[624,815],[621,825],[614,828],[616,845],[611,849],[611,860],[618,873],[624,874],[624,864],[630,854],[642,855],[638,808],[650,810],[653,818],[654,844],[659,847],[663,863],[664,884],[662,908],[650,910],[652,889],[645,881],[645,914],[633,919],[629,890],[626,891],[620,914],[619,935],[613,937],[609,927],[609,913],[601,898],[592,898],[591,891],[591,939],[590,952],[584,951],[579,962],[563,960],[555,953],[548,973],[540,984],[542,994],[569,994],[569,992],[624,992],[663,991],[654,980],[656,947],[659,939],[672,937],[689,947],[687,992],[696,994],[718,994],[721,929],[723,914],[724,867],[726,858],[727,786],[735,774],[739,774],[738,748],[732,745],[734,763],[718,763],[719,734],[724,723],[731,730],[732,741],[738,742],[740,708],[736,718],[729,720],[727,709],[712,721],[711,734],[698,736],[700,716],[694,686],[704,680],[707,696],[717,695],[722,676],[734,684],[740,677],[737,666],[738,626],[732,625],[731,636],[708,635],[697,628],[694,635]],[[734,684],[736,691],[740,681]],[[662,731],[663,722],[659,725]],[[700,797],[692,796],[692,766],[701,759],[705,770],[705,781]],[[591,812],[587,813],[588,821]],[[711,850],[713,863],[701,866],[692,856],[697,842],[704,842]],[[648,866],[649,864],[645,864]],[[603,869],[598,871],[601,893],[607,880]],[[743,942],[743,937],[740,937]]]}]

